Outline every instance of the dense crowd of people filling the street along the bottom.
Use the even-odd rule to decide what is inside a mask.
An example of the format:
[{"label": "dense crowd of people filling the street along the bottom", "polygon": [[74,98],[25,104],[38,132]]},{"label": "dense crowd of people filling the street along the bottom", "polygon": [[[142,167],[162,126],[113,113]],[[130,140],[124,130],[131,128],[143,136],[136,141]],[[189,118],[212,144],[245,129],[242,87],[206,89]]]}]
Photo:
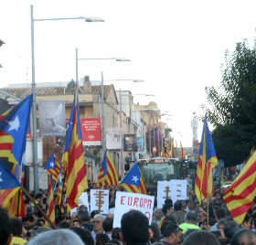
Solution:
[{"label": "dense crowd of people filling the street along the bottom", "polygon": [[[88,190],[90,197],[90,190]],[[125,213],[121,227],[113,227],[114,195],[110,191],[110,212],[100,214],[97,210],[81,205],[70,216],[60,212],[56,205],[54,227],[46,227],[44,216],[28,199],[25,200],[26,218],[10,218],[0,208],[0,245],[5,244],[86,244],[86,245],[219,245],[256,244],[256,200],[243,222],[237,224],[229,215],[223,202],[223,189],[217,189],[210,197],[208,207],[201,205],[194,191],[188,189],[187,200],[173,203],[165,199],[163,208],[156,208],[151,224],[140,211]],[[47,209],[47,191],[35,196],[37,204]],[[156,200],[157,198],[155,198]]]}]

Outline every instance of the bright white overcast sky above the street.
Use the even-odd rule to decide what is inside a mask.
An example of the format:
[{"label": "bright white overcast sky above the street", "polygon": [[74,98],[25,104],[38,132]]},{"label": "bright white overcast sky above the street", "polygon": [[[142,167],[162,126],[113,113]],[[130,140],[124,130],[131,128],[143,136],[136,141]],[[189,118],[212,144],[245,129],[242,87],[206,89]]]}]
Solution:
[{"label": "bright white overcast sky above the street", "polygon": [[[31,83],[30,5],[34,18],[99,16],[104,23],[82,20],[35,22],[36,82],[75,80],[75,48],[79,58],[126,58],[80,60],[79,76],[116,81],[115,89],[133,94],[135,102],[155,101],[175,140],[192,145],[193,112],[202,114],[206,86],[218,86],[220,65],[226,49],[255,37],[256,1],[193,0],[44,0],[1,1],[0,87]],[[202,123],[199,122],[198,139]],[[180,133],[178,133],[180,132]]]}]

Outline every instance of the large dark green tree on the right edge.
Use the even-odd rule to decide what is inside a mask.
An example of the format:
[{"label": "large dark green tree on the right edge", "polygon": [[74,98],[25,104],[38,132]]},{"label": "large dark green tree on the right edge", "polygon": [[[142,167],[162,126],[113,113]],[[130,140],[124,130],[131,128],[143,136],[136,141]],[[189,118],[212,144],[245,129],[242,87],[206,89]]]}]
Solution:
[{"label": "large dark green tree on the right edge", "polygon": [[210,106],[202,108],[214,126],[216,154],[225,165],[238,165],[256,145],[256,42],[250,48],[244,40],[227,51],[220,86],[206,92]]}]

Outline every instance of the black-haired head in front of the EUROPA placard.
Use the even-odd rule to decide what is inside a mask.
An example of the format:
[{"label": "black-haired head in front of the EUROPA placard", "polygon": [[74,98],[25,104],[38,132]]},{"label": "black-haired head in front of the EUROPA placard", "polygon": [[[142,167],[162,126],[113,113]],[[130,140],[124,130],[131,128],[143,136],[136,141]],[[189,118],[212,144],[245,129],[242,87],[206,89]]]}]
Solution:
[{"label": "black-haired head in front of the EUROPA placard", "polygon": [[121,236],[123,244],[132,245],[148,240],[148,218],[137,210],[123,215],[121,219]]}]

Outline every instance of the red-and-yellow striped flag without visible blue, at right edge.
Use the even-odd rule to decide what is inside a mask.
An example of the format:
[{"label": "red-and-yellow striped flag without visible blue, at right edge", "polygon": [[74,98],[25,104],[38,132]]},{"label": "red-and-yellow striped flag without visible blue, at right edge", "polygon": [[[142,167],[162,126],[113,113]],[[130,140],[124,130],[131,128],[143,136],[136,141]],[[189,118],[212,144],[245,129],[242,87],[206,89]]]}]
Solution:
[{"label": "red-and-yellow striped flag without visible blue, at right edge", "polygon": [[224,192],[223,199],[232,218],[241,224],[256,195],[256,151]]}]

